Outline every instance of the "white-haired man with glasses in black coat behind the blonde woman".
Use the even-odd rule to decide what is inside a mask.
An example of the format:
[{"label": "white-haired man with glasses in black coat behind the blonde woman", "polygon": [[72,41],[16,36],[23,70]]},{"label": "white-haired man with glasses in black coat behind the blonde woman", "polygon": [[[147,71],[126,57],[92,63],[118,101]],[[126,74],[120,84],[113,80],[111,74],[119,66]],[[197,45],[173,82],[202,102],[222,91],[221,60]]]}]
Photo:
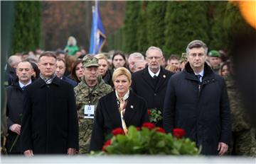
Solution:
[{"label": "white-haired man with glasses in black coat behind the blonde woman", "polygon": [[[163,112],[164,97],[169,78],[173,73],[161,67],[163,53],[159,47],[146,50],[148,66],[132,74],[132,90],[146,100],[149,108]],[[156,126],[163,127],[162,120]]]}]

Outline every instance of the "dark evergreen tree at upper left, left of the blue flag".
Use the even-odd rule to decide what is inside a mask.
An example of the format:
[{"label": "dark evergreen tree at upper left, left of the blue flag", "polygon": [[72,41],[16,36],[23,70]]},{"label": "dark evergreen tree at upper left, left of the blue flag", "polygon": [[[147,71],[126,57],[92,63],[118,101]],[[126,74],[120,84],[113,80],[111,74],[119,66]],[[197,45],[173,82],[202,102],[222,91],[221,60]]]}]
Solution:
[{"label": "dark evergreen tree at upper left, left of the blue flag", "polygon": [[40,44],[40,1],[16,1],[15,10],[11,52],[33,51]]}]

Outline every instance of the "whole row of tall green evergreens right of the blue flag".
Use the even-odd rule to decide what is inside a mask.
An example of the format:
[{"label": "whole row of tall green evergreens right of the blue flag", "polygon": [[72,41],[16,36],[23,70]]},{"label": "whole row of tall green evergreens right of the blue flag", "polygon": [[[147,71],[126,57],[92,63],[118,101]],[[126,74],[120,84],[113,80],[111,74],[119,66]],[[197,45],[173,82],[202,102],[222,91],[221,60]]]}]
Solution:
[{"label": "whole row of tall green evergreens right of the blue flag", "polygon": [[146,52],[154,45],[166,57],[181,55],[191,40],[228,50],[238,33],[256,33],[229,1],[127,1],[123,28],[121,50]]}]

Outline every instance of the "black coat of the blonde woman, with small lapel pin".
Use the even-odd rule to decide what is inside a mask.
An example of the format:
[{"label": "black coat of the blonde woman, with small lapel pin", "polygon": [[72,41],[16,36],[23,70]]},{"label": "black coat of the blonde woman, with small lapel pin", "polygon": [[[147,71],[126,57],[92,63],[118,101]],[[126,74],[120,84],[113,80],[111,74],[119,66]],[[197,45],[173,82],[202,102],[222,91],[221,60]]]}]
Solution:
[{"label": "black coat of the blonde woman, with small lapel pin", "polygon": [[[127,106],[125,107],[124,120],[127,128],[130,125],[141,127],[144,122],[149,122],[146,102],[130,91]],[[95,123],[92,129],[90,151],[99,151],[105,141],[105,136],[113,129],[122,128],[122,121],[117,107],[115,91],[100,98]]]}]

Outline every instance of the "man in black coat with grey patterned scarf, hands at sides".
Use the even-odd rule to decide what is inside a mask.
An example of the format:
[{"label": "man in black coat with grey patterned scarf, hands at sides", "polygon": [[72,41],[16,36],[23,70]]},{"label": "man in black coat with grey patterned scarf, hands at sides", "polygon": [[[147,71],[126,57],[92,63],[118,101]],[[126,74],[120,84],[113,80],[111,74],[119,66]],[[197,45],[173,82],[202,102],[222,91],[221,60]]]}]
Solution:
[{"label": "man in black coat with grey patterned scarf, hands at sides", "polygon": [[78,116],[73,86],[55,75],[56,57],[43,52],[38,59],[40,78],[25,88],[21,151],[69,154],[78,150]]}]

